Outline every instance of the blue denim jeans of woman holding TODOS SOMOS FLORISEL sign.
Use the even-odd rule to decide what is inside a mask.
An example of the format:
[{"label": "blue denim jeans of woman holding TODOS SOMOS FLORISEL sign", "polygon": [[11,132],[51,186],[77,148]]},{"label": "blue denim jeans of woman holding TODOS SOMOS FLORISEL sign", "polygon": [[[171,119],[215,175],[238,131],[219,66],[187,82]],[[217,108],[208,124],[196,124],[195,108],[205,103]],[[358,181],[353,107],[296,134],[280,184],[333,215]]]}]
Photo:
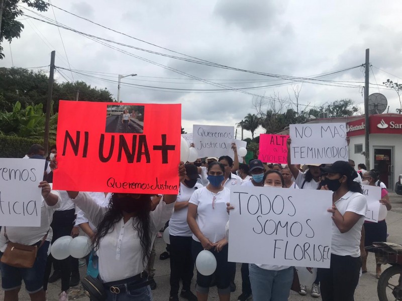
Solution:
[{"label": "blue denim jeans of woman holding TODOS SOMOS FLORISEL sign", "polygon": [[249,270],[254,301],[287,301],[293,282],[293,267],[275,271],[250,264]]}]

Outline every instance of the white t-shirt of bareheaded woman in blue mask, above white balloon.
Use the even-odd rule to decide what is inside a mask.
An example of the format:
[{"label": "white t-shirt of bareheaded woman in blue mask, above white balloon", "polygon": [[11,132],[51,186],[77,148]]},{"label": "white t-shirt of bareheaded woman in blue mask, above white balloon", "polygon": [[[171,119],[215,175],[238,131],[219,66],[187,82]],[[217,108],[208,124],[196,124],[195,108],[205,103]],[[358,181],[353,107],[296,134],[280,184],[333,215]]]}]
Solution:
[{"label": "white t-shirt of bareheaded woman in blue mask, above white balloon", "polygon": [[[228,188],[224,187],[218,194],[213,194],[206,187],[197,189],[188,202],[197,206],[195,221],[205,237],[212,243],[225,238],[225,226],[229,220],[229,214],[226,212],[226,203],[230,202],[230,190]],[[199,242],[194,234],[192,238]]]}]

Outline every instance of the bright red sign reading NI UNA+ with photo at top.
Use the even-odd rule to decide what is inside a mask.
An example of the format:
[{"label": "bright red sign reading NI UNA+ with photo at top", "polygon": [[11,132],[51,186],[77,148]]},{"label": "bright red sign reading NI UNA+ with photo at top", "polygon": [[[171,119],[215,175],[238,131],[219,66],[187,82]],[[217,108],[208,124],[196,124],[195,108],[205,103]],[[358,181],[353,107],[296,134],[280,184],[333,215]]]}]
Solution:
[{"label": "bright red sign reading NI UNA+ with photo at top", "polygon": [[60,100],[53,188],[177,194],[180,104]]}]

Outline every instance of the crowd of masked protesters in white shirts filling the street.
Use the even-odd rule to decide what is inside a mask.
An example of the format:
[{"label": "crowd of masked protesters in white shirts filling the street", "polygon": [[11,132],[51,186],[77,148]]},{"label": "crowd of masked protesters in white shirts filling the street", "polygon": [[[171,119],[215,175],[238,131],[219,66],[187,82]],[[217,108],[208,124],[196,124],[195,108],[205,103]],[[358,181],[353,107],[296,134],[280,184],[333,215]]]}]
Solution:
[{"label": "crowd of masked protesters in white shirts filling the street", "polygon": [[[196,148],[197,143],[194,141],[190,146]],[[309,293],[324,301],[353,300],[359,277],[367,272],[364,247],[386,241],[387,237],[385,220],[365,221],[367,201],[361,185],[381,186],[378,202],[390,210],[386,187],[379,182],[377,171],[366,171],[364,164],[359,164],[356,172],[351,160],[291,164],[291,146],[292,139],[288,138],[284,144],[287,164],[272,164],[257,158],[247,164],[238,156],[236,143],[228,147],[229,154],[224,152],[221,157],[181,162],[174,167],[180,180],[178,194],[174,195],[53,190],[53,177],[63,169],[58,164],[61,152],[57,155],[56,145],[53,145],[45,159],[45,149],[32,145],[26,159],[45,162],[43,181],[39,185],[42,193],[40,226],[1,227],[4,300],[18,300],[24,281],[31,300],[44,301],[48,283],[61,279],[59,300],[66,301],[68,289],[79,285],[83,278],[78,271],[81,264],[87,265],[88,275],[82,285],[92,300],[152,300],[152,290],[156,288],[154,241],[163,231],[163,236],[167,236],[166,231],[169,234],[166,251],[160,254],[160,259],[170,260],[170,295],[166,296],[169,301],[177,301],[179,297],[189,301],[208,300],[209,289],[213,286],[217,287],[221,301],[229,301],[234,291],[238,291],[240,301],[284,301],[291,289],[300,294],[300,299]],[[317,194],[313,193],[317,190],[331,192],[332,205],[326,209],[325,218],[332,225],[332,233],[324,234],[332,237],[331,248],[320,250],[322,261],[327,258],[328,266],[304,267],[316,274],[310,287],[298,282],[295,264],[285,265],[282,261],[275,263],[270,259],[267,264],[250,257],[249,262],[242,262],[240,271],[236,270],[236,263],[229,260],[230,244],[235,239],[232,231],[236,229],[229,218],[240,207],[240,196],[239,202],[231,201],[231,190],[239,186],[258,191],[258,194],[265,190],[267,193],[303,190],[315,198]],[[293,200],[293,205],[296,202]],[[252,210],[249,205],[246,207]],[[263,210],[262,205],[258,208]],[[258,221],[261,232],[266,233],[269,223]],[[259,231],[258,227],[253,229],[255,233]],[[68,256],[60,260],[53,247],[50,252],[50,246],[58,239],[83,235],[91,241],[90,253],[84,258]],[[37,252],[32,267],[12,263],[7,250],[11,243],[35,246]],[[247,250],[248,246],[244,248]],[[194,264],[206,250],[215,258],[216,267],[208,273],[202,271],[202,266],[196,266],[194,275]],[[309,252],[305,250],[305,254]],[[380,262],[375,272],[377,277],[381,275]],[[241,289],[234,283],[236,273],[241,273]],[[195,286],[191,285],[194,281]]]}]

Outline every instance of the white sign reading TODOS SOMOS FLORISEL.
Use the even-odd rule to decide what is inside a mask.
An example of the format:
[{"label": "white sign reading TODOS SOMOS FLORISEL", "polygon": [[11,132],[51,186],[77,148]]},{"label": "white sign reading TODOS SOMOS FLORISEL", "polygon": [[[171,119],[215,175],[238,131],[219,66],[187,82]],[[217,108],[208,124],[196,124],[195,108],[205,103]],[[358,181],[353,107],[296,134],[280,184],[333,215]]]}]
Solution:
[{"label": "white sign reading TODOS SOMOS FLORISEL", "polygon": [[233,186],[232,262],[330,267],[332,192]]}]

